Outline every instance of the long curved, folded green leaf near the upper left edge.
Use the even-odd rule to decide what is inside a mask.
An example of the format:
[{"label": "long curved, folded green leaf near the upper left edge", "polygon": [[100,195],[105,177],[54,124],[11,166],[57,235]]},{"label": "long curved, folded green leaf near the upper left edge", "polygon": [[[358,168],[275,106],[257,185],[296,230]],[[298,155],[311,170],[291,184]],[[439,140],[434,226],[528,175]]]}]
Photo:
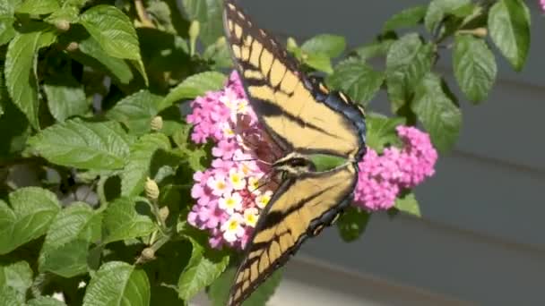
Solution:
[{"label": "long curved, folded green leaf near the upper left edge", "polygon": [[18,34],[10,42],[5,55],[4,72],[7,90],[13,103],[22,110],[35,129],[39,129],[37,52],[40,47],[51,45],[55,38],[55,34],[49,31]]}]

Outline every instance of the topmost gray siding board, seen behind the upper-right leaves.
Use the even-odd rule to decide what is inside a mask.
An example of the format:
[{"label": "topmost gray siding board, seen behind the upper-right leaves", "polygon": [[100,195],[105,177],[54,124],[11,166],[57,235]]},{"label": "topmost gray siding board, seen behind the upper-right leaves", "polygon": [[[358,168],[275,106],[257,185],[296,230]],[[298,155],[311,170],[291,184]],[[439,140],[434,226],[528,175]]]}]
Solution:
[{"label": "topmost gray siding board, seen behind the upper-right leaves", "polygon": [[[514,72],[503,58],[499,59],[498,70],[502,78],[510,81],[523,81],[535,86],[545,87],[543,71],[545,61],[545,41],[542,30],[545,18],[537,0],[525,1],[532,13],[532,48],[523,73]],[[262,27],[296,38],[308,38],[316,34],[340,34],[348,38],[349,46],[359,46],[371,42],[382,30],[385,21],[394,13],[417,4],[428,4],[427,0],[366,2],[353,0],[315,0],[307,1],[252,1],[241,3]],[[428,34],[426,34],[428,35]],[[450,55],[444,56],[441,63],[450,63]]]}]

